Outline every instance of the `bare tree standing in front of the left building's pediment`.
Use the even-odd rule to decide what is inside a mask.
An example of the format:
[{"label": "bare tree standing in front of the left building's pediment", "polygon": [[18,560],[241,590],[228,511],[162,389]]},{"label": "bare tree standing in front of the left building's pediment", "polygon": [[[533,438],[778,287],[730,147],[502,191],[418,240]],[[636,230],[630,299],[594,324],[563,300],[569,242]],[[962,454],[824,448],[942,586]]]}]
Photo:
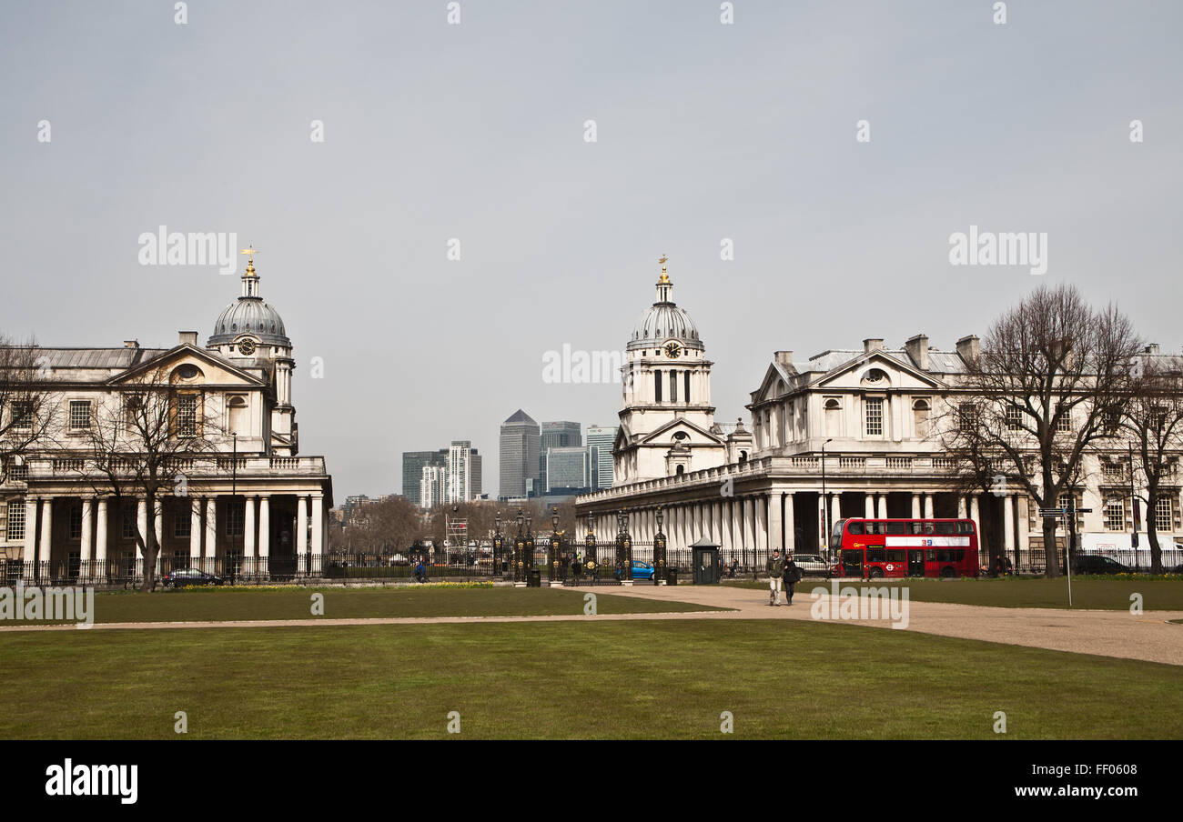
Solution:
[{"label": "bare tree standing in front of the left building's pediment", "polygon": [[143,558],[141,589],[156,585],[157,506],[167,497],[188,497],[195,460],[216,451],[224,435],[218,416],[207,410],[209,395],[179,390],[164,367],[149,369],[121,386],[91,413],[86,457],[77,472],[98,497],[116,505],[138,504],[147,509],[141,530],[136,518],[136,546]]}]

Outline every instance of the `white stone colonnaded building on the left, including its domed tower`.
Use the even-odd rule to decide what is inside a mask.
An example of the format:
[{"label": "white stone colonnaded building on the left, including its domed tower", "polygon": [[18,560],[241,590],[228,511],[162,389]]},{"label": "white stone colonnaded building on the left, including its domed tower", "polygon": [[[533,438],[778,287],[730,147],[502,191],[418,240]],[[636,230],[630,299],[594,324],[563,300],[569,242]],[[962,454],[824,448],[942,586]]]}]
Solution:
[{"label": "white stone colonnaded building on the left, including its domed tower", "polygon": [[[27,577],[96,580],[136,574],[143,498],[116,500],[93,481],[95,426],[117,420],[148,380],[167,381],[173,433],[200,438],[180,453],[176,487],[160,500],[161,565],[215,574],[315,572],[328,546],[332,481],[323,457],[299,454],[292,344],[259,296],[253,259],[243,293],[205,347],[180,332],[172,348],[41,348],[41,413],[52,429],[15,457],[0,485],[0,565]],[[0,413],[13,414],[6,408]],[[140,571],[142,572],[142,571]]]}]

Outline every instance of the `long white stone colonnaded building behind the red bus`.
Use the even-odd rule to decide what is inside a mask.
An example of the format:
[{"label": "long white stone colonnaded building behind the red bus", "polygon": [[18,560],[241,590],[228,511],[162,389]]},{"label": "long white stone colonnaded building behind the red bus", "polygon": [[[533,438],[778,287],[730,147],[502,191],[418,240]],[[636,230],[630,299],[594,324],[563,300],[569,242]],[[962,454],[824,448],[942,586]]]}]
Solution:
[{"label": "long white stone colonnaded building behind the red bus", "polygon": [[[657,342],[665,336],[662,329]],[[597,535],[614,533],[616,512],[627,510],[636,543],[652,542],[661,506],[670,548],[686,548],[705,536],[722,544],[728,557],[733,552],[741,559],[772,549],[816,552],[843,517],[969,517],[978,523],[983,548],[990,539],[996,549],[1022,556],[1042,548],[1042,524],[1028,494],[1004,486],[991,493],[961,492],[955,465],[942,449],[938,428],[955,419],[950,410],[958,404],[967,363],[978,356],[977,337],[963,337],[952,350],[930,347],[924,335],[898,349],[868,338],[861,348],[828,350],[804,362],[795,362],[791,351],[777,351],[746,404],[746,458],[718,435],[709,399],[702,408],[687,409],[681,422],[678,414],[653,408],[645,391],[652,381],[648,370],[664,362],[654,358],[660,356],[655,348],[641,348],[644,356],[629,363],[636,388],[632,394],[626,389],[621,412],[618,484],[576,500],[577,514]],[[1145,356],[1183,369],[1183,357],[1159,355],[1157,347]],[[697,358],[680,362],[693,363],[698,373],[709,365]],[[700,384],[706,383],[704,374]],[[657,425],[640,423],[642,409],[641,419],[653,412],[664,415]],[[626,422],[631,435],[623,433]],[[677,452],[666,431],[687,435],[683,471],[670,470]],[[646,458],[648,442],[654,454]],[[698,461],[696,444],[703,454]],[[1085,546],[1129,549],[1133,510],[1125,440],[1114,439],[1086,455],[1084,473],[1087,479],[1075,504],[1092,509],[1081,520]],[[1181,486],[1170,487],[1142,520],[1144,530],[1145,517],[1156,517],[1164,549],[1174,546],[1175,535],[1183,535]]]}]

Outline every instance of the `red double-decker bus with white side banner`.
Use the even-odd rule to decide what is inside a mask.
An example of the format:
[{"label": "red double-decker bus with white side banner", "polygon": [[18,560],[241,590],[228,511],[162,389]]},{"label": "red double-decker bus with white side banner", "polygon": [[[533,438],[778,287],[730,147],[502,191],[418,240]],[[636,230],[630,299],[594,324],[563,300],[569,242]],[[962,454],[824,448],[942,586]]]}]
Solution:
[{"label": "red double-decker bus with white side banner", "polygon": [[977,576],[972,519],[840,519],[834,524],[835,574],[871,580]]}]

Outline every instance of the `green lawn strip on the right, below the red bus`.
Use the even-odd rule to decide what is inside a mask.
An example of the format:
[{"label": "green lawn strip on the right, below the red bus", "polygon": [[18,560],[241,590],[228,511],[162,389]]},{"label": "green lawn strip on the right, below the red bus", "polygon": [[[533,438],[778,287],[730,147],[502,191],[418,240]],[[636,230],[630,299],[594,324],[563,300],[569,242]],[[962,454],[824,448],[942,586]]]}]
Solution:
[{"label": "green lawn strip on the right, below the red bus", "polygon": [[[768,590],[768,582],[728,582],[729,585]],[[796,595],[809,600],[809,593],[817,587],[829,590],[829,581],[806,577],[797,583]],[[1058,580],[1020,578],[1007,580],[963,577],[959,580],[851,580],[841,585],[907,585],[909,598],[916,602],[959,602],[968,606],[994,606],[997,608],[1067,608],[1068,582]],[[1130,596],[1142,594],[1145,610],[1183,610],[1183,578],[1178,580],[1106,580],[1099,577],[1073,577],[1073,608],[1100,610],[1127,610]]]}]

